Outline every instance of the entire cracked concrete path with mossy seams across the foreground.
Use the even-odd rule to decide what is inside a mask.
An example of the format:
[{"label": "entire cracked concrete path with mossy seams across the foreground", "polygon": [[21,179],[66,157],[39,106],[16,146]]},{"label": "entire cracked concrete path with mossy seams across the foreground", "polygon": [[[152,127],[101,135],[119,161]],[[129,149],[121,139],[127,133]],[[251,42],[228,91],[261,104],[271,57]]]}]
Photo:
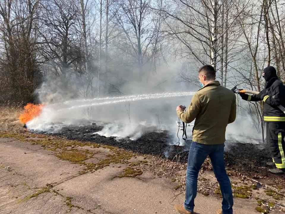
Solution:
[{"label": "entire cracked concrete path with mossy seams across the foreground", "polygon": [[[0,214],[175,213],[173,205],[185,197],[174,190],[177,184],[148,172],[116,177],[127,166],[110,164],[82,174],[85,166],[60,160],[40,145],[0,138]],[[214,214],[221,199],[198,194],[195,205],[197,213]],[[256,206],[253,200],[235,199],[234,213],[258,213]]]}]

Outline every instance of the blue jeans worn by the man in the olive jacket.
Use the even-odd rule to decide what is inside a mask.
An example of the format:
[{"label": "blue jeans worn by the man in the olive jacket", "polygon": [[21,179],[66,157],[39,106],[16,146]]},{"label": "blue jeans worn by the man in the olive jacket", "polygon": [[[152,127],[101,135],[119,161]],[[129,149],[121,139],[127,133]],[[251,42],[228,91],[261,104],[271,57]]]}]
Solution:
[{"label": "blue jeans worn by the man in the olive jacket", "polygon": [[215,176],[220,184],[223,196],[222,210],[223,214],[232,214],[232,187],[224,166],[224,144],[205,145],[192,142],[186,173],[186,197],[184,207],[188,211],[194,210],[194,199],[197,195],[197,178],[202,163],[209,155]]}]

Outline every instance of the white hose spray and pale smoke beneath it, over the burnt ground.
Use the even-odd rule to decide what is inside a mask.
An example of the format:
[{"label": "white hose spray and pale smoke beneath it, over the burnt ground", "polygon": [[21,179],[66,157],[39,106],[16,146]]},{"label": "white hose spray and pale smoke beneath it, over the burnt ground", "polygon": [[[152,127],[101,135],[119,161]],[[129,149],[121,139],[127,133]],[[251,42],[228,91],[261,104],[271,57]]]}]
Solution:
[{"label": "white hose spray and pale smoke beneath it, over the burnt ground", "polygon": [[[64,125],[78,125],[80,119],[88,119],[85,110],[92,109],[91,120],[104,126],[97,134],[106,137],[130,137],[136,140],[144,133],[162,130],[173,130],[174,135],[178,128],[175,124],[175,108],[178,104],[190,103],[194,93],[173,92],[68,100],[46,105],[42,114],[28,122],[27,127],[37,131],[60,131]],[[130,109],[127,109],[128,106]],[[100,124],[100,121],[104,124]]]}]

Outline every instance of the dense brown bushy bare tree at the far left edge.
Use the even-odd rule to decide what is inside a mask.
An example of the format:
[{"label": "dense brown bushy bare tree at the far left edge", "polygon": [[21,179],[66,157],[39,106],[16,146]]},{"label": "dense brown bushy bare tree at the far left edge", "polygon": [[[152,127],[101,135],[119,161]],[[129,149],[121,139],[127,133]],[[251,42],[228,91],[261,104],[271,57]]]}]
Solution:
[{"label": "dense brown bushy bare tree at the far left edge", "polygon": [[7,91],[6,99],[31,102],[40,77],[40,57],[36,54],[39,0],[1,1],[0,17],[1,89]]}]

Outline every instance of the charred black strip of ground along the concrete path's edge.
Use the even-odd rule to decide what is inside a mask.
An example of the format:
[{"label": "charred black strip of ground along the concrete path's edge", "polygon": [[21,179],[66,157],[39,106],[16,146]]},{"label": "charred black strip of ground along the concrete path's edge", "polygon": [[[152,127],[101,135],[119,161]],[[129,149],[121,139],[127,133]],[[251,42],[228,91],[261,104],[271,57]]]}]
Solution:
[{"label": "charred black strip of ground along the concrete path's edge", "polygon": [[[105,137],[94,134],[102,130],[102,126],[93,125],[68,125],[62,127],[58,131],[41,132],[58,137],[64,137],[69,140],[90,141],[123,148],[132,152],[137,152],[144,155],[156,155],[162,158],[172,160],[175,155],[179,155],[179,162],[186,163],[188,158],[188,149],[191,145],[189,140],[186,146],[170,145],[173,142],[173,137],[167,131],[163,132],[147,132],[139,139],[132,141],[129,138],[117,139],[116,137]],[[240,174],[247,174],[255,177],[258,176],[272,177],[272,174],[267,172],[266,162],[271,161],[270,152],[265,143],[251,144],[249,142],[227,141],[225,152],[225,165],[227,169]],[[178,159],[175,157],[175,160]],[[211,169],[210,161],[203,165],[205,169]]]}]

